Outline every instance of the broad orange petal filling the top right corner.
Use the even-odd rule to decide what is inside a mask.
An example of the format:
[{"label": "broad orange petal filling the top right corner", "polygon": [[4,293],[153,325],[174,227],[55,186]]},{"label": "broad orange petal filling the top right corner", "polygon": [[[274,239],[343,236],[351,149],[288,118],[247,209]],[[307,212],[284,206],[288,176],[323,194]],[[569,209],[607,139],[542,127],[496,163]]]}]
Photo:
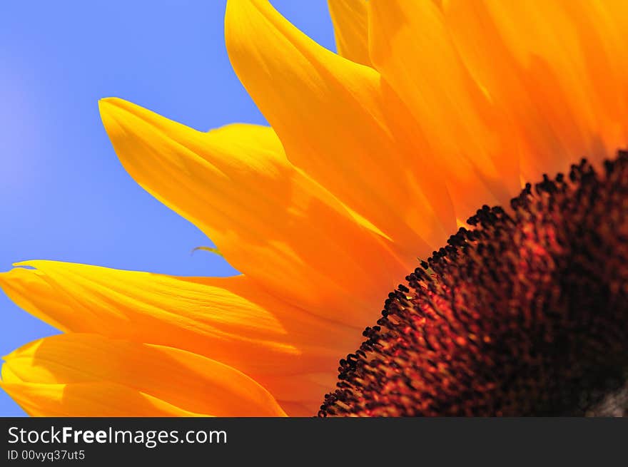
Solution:
[{"label": "broad orange petal filling the top right corner", "polygon": [[625,147],[625,1],[541,1],[530,8],[452,0],[445,17],[465,65],[515,123],[525,179]]}]

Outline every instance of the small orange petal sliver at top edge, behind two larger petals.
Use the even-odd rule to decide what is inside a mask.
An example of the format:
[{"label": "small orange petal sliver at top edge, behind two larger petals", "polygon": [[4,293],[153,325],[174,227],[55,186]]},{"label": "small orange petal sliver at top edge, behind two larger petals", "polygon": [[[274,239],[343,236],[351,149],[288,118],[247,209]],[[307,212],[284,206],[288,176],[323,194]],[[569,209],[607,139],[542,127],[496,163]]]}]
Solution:
[{"label": "small orange petal sliver at top edge, behind two larger petals", "polygon": [[355,63],[371,66],[366,0],[328,0],[327,3],[338,53]]}]

